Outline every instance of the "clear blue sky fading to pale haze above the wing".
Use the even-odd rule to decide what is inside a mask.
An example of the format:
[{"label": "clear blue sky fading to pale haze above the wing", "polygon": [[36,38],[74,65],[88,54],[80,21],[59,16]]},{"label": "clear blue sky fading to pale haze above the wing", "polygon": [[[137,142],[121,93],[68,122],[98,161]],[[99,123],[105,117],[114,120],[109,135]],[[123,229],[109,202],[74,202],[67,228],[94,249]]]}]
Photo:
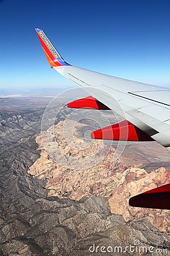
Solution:
[{"label": "clear blue sky fading to pale haze above the wing", "polygon": [[170,86],[169,13],[169,0],[0,0],[0,89],[73,86],[50,69],[34,28],[70,64]]}]

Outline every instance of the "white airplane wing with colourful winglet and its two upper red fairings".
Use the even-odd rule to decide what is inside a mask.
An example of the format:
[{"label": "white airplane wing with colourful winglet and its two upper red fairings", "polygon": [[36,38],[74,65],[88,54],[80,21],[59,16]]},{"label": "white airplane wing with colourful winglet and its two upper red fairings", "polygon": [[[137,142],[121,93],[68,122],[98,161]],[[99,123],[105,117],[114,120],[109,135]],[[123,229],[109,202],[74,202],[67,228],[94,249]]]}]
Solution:
[{"label": "white airplane wing with colourful winglet and its two upper red fairings", "polygon": [[[71,102],[69,107],[112,109],[125,118],[94,131],[92,138],[157,141],[170,152],[169,89],[74,67],[63,60],[41,29],[36,28],[36,32],[50,66],[91,95]],[[127,129],[128,135],[124,132]]]}]

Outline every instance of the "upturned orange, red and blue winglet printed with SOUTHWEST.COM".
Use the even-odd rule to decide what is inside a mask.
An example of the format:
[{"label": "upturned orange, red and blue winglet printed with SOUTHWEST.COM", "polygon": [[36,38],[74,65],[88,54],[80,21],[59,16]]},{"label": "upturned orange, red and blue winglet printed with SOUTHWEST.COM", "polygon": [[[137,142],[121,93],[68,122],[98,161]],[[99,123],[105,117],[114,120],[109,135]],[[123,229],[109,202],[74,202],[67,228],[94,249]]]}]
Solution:
[{"label": "upturned orange, red and blue winglet printed with SOUTHWEST.COM", "polygon": [[53,44],[47,38],[45,33],[42,30],[40,30],[39,28],[35,28],[35,30],[39,37],[42,49],[44,50],[46,59],[48,60],[51,68],[69,65],[68,63],[66,63],[66,61],[64,61],[62,59],[61,55],[59,55],[59,53],[54,48]]}]

